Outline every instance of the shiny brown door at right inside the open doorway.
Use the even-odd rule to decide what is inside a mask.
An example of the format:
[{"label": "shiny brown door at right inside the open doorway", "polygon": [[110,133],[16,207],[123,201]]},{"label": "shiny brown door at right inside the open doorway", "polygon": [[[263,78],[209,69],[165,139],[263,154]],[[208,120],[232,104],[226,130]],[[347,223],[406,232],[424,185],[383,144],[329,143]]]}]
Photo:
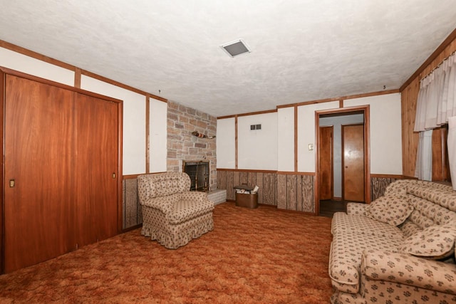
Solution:
[{"label": "shiny brown door at right inside the open doorway", "polygon": [[343,199],[365,201],[364,196],[364,125],[342,126]]}]

